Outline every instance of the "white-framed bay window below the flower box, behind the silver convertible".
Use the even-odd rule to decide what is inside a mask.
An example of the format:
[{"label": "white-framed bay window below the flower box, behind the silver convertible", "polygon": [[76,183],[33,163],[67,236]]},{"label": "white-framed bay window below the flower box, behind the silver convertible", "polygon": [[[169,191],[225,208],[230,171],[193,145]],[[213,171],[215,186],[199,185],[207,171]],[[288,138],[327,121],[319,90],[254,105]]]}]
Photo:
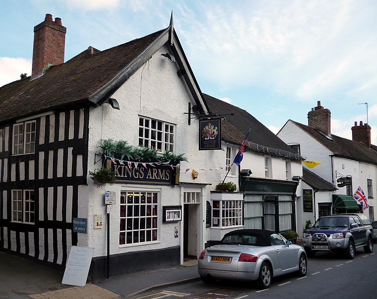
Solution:
[{"label": "white-framed bay window below the flower box, behind the silver convertible", "polygon": [[213,227],[239,225],[242,225],[242,200],[214,200],[212,202]]}]

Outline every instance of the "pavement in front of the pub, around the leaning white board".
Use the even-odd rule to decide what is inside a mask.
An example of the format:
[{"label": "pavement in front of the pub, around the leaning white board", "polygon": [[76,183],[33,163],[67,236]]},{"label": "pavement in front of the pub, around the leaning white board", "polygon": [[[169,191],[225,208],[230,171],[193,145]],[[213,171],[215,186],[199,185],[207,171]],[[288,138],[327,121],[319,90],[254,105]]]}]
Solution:
[{"label": "pavement in front of the pub, around the leaning white board", "polygon": [[0,252],[0,299],[129,299],[162,287],[199,281],[197,260],[86,283],[62,285],[63,272]]}]

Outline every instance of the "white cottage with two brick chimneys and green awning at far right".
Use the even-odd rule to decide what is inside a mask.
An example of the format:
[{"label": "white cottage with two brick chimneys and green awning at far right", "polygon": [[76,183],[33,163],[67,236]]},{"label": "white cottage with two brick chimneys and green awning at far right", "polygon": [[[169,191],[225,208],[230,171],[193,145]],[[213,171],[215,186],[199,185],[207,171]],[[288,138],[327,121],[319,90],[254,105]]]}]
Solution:
[{"label": "white cottage with two brick chimneys and green awning at far right", "polygon": [[364,213],[371,220],[377,217],[377,152],[371,145],[371,126],[355,122],[352,131],[353,140],[331,134],[331,112],[318,101],[317,107],[308,113],[308,125],[288,120],[278,133],[307,160],[320,162],[311,172],[335,188],[332,193],[325,191],[327,195],[322,194],[320,201],[319,194],[316,195],[313,220],[321,215],[363,211],[352,198],[359,186],[370,204]]}]

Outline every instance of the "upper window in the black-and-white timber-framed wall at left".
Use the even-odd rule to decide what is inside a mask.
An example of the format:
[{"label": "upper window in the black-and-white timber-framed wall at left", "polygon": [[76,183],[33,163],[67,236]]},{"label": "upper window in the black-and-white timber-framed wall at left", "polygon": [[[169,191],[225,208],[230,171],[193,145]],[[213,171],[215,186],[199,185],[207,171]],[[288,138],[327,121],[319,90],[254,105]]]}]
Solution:
[{"label": "upper window in the black-and-white timber-framed wall at left", "polygon": [[13,155],[35,152],[35,120],[13,125]]}]

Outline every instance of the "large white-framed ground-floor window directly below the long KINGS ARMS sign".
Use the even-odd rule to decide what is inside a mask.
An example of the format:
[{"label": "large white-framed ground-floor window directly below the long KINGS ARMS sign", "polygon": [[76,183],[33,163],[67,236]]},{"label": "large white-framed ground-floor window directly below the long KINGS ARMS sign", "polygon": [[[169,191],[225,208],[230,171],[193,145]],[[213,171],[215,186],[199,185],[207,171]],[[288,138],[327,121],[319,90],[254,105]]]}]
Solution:
[{"label": "large white-framed ground-floor window directly below the long KINGS ARMS sign", "polygon": [[121,192],[119,245],[158,241],[158,192]]}]

